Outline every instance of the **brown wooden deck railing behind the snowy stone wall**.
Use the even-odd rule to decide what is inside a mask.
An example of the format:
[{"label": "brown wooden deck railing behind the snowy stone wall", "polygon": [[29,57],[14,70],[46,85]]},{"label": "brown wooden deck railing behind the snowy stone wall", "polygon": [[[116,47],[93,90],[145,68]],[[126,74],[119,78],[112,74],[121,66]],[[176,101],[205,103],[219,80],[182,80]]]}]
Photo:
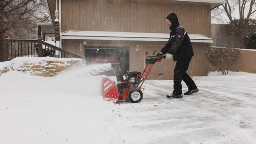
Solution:
[{"label": "brown wooden deck railing behind the snowy stone wall", "polygon": [[12,60],[18,56],[84,59],[82,56],[43,41],[41,36],[38,36],[37,40],[9,39],[7,36],[4,36],[2,56],[4,61]]}]

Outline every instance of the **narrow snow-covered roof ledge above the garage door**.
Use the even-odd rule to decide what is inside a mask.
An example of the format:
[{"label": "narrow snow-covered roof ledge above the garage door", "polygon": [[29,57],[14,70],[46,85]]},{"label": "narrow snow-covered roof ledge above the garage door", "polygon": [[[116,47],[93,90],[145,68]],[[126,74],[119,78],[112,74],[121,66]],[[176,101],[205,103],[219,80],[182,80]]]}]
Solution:
[{"label": "narrow snow-covered roof ledge above the garage door", "polygon": [[[126,40],[126,41],[162,41],[167,42],[170,34],[142,33],[142,32],[100,32],[100,31],[72,31],[63,32],[62,39],[78,40]],[[212,43],[213,39],[201,34],[188,34],[191,42]]]}]

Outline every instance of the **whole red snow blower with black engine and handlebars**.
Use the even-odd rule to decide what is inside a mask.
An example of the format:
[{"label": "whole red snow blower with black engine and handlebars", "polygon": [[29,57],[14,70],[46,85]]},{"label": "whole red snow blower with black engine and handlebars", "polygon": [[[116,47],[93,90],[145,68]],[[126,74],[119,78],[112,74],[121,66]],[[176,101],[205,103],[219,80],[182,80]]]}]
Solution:
[{"label": "whole red snow blower with black engine and handlebars", "polygon": [[[155,74],[154,72],[150,72],[153,65],[156,62],[161,62],[162,58],[164,58],[164,56],[154,56],[154,54],[150,56],[148,52],[146,52],[146,54],[148,57],[146,58],[146,66],[142,73],[133,71],[126,72],[126,74],[123,75],[120,70],[120,64],[111,64],[118,82],[112,82],[112,80],[106,77],[102,78],[102,96],[105,100],[113,101],[114,103],[117,102],[117,100],[130,100],[133,103],[142,100],[142,85],[148,77],[148,74]],[[159,76],[161,74],[155,75]]]}]

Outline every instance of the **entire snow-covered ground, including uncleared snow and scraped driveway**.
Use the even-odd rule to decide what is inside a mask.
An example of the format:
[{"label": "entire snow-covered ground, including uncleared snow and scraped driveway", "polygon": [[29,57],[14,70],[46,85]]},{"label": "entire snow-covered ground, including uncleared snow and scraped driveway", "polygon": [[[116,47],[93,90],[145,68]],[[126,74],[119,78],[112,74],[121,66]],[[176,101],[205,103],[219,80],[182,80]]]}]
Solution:
[{"label": "entire snow-covered ground, including uncleared snow and scraped driveway", "polygon": [[166,98],[172,80],[147,80],[142,102],[113,104],[95,66],[2,74],[0,144],[256,144],[256,74],[193,77],[199,92],[180,99]]}]

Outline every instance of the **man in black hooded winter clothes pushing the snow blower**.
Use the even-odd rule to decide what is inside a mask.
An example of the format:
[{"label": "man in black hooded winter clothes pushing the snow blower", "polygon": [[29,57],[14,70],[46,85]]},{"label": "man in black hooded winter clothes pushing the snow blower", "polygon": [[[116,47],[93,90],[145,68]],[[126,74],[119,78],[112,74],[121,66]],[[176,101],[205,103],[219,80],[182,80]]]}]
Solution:
[{"label": "man in black hooded winter clothes pushing the snow blower", "polygon": [[175,13],[171,13],[166,17],[168,26],[170,26],[170,39],[168,43],[161,49],[157,56],[166,54],[165,59],[171,59],[177,61],[174,68],[174,85],[173,92],[167,95],[167,98],[182,98],[182,84],[183,80],[188,86],[188,91],[184,95],[190,95],[194,92],[198,92],[198,88],[190,76],[186,73],[188,65],[192,56],[194,56],[190,38],[186,30],[180,26],[178,17]]}]

